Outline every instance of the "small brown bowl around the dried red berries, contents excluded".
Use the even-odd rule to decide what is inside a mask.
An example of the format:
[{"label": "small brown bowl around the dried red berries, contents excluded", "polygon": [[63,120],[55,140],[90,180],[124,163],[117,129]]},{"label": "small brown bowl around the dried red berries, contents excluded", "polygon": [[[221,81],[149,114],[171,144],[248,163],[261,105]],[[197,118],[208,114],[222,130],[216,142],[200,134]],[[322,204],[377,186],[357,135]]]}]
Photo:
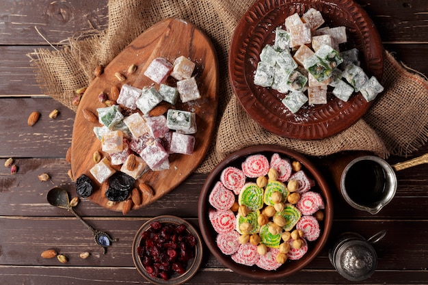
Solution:
[{"label": "small brown bowl around the dried red berries, contents excluded", "polygon": [[[187,228],[187,232],[189,232],[189,234],[193,234],[193,236],[196,237],[195,256],[191,260],[189,260],[185,273],[183,273],[183,274],[174,273],[174,275],[172,275],[169,280],[163,280],[162,278],[152,277],[150,274],[148,274],[146,269],[144,268],[144,265],[142,263],[141,258],[139,257],[139,254],[138,254],[138,247],[142,243],[141,234],[142,234],[142,232],[144,232],[150,228],[150,224],[153,221],[159,221],[160,223],[163,223],[163,224],[174,224],[174,225],[179,225],[179,224],[183,223]],[[171,215],[163,215],[163,216],[159,216],[159,217],[154,217],[154,218],[146,221],[146,223],[144,223],[143,226],[141,226],[141,228],[139,228],[139,230],[137,230],[137,233],[135,234],[133,245],[132,245],[132,258],[133,258],[135,267],[137,268],[137,271],[148,282],[151,282],[152,284],[159,284],[159,285],[183,284],[183,283],[189,281],[191,279],[191,277],[193,277],[193,275],[196,274],[196,272],[198,271],[198,269],[200,267],[200,264],[202,262],[202,240],[200,239],[200,236],[199,236],[198,232],[196,231],[196,229],[193,228],[193,226],[191,226],[191,224],[188,223],[187,221],[185,221],[184,219],[181,219],[181,218],[175,217],[175,216],[171,216]]]}]

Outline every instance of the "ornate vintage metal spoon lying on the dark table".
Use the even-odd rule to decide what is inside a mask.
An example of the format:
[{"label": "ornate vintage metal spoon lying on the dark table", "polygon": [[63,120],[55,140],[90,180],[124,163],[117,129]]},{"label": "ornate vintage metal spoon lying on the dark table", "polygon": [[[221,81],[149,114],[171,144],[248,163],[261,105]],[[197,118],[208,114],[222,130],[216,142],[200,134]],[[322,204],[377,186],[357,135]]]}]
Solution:
[{"label": "ornate vintage metal spoon lying on the dark table", "polygon": [[61,188],[55,187],[49,190],[47,195],[47,200],[49,204],[52,206],[57,206],[58,208],[65,208],[68,212],[75,215],[86,227],[88,227],[91,232],[94,234],[94,239],[97,245],[103,247],[104,254],[107,252],[107,247],[111,245],[112,241],[118,241],[118,239],[111,239],[109,234],[105,232],[100,232],[99,230],[95,230],[90,226],[87,222],[83,221],[83,219],[77,215],[77,213],[73,210],[72,206],[70,206],[70,200],[68,199],[68,192]]}]

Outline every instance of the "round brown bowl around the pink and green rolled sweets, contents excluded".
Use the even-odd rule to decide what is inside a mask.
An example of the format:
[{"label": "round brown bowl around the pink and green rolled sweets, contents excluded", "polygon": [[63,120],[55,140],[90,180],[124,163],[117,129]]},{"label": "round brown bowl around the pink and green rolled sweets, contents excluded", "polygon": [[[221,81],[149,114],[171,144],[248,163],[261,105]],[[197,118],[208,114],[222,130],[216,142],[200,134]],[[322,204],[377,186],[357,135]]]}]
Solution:
[{"label": "round brown bowl around the pink and green rolled sweets, contents excluded", "polygon": [[[276,271],[266,271],[264,269],[260,269],[256,265],[248,267],[243,264],[238,264],[233,261],[230,256],[223,254],[220,251],[215,241],[217,237],[217,232],[215,232],[213,226],[211,226],[211,221],[209,220],[208,213],[209,210],[213,207],[211,206],[211,204],[209,204],[208,200],[209,194],[211,193],[211,189],[213,189],[215,183],[219,181],[220,174],[222,173],[222,170],[224,168],[228,166],[235,166],[241,168],[241,163],[252,154],[264,154],[266,157],[268,157],[268,159],[270,159],[273,153],[278,153],[283,158],[288,157],[291,161],[300,161],[300,163],[302,163],[302,169],[304,170],[304,172],[306,172],[306,175],[309,178],[315,180],[315,186],[312,187],[310,191],[317,191],[323,197],[325,203],[325,209],[323,210],[325,213],[325,217],[323,221],[319,222],[319,226],[321,228],[321,234],[319,238],[316,241],[308,241],[308,252],[306,252],[306,254],[302,258],[300,258],[299,260],[287,260],[284,264],[281,265],[281,267],[276,269]],[[247,178],[247,182],[250,181],[250,178]],[[330,234],[330,230],[332,228],[332,196],[330,194],[330,189],[327,185],[327,182],[325,182],[321,173],[302,154],[299,154],[293,150],[281,148],[279,146],[252,146],[230,154],[229,157],[219,163],[219,165],[215,167],[213,172],[209,174],[200,193],[198,218],[202,239],[204,239],[211,253],[217,258],[217,260],[219,260],[219,262],[222,262],[225,267],[228,267],[229,269],[240,275],[256,278],[259,280],[280,280],[281,278],[297,273],[298,271],[306,267],[306,265],[308,265],[311,260],[313,260],[319,254],[319,252],[325,245],[327,238]]]}]

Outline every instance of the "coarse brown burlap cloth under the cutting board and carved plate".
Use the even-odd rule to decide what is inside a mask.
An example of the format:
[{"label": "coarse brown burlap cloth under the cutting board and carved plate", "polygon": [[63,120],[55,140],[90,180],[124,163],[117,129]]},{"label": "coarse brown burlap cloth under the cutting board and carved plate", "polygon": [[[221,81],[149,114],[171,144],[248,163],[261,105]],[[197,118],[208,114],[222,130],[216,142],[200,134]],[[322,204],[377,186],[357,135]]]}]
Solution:
[{"label": "coarse brown burlap cloth under the cutting board and carved plate", "polygon": [[[42,92],[76,111],[75,90],[87,86],[99,64],[107,65],[145,29],[168,17],[183,18],[213,41],[219,59],[219,113],[215,139],[198,172],[210,172],[228,154],[245,146],[277,144],[309,155],[369,150],[379,157],[406,156],[428,139],[428,82],[385,53],[385,91],[364,118],[317,141],[286,139],[261,128],[235,98],[228,79],[228,49],[235,26],[254,0],[110,0],[105,31],[85,31],[61,49],[30,53]],[[49,39],[48,39],[49,40]]]}]

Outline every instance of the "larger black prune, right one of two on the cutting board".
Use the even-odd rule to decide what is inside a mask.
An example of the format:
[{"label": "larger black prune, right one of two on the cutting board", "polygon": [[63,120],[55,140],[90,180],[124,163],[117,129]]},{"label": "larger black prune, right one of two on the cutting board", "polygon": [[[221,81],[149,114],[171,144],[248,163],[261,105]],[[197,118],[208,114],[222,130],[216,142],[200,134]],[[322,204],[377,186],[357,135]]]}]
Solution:
[{"label": "larger black prune, right one of two on the cutting board", "polygon": [[133,189],[134,183],[135,179],[128,174],[116,172],[109,177],[109,187],[105,191],[105,197],[114,202],[124,201]]}]

